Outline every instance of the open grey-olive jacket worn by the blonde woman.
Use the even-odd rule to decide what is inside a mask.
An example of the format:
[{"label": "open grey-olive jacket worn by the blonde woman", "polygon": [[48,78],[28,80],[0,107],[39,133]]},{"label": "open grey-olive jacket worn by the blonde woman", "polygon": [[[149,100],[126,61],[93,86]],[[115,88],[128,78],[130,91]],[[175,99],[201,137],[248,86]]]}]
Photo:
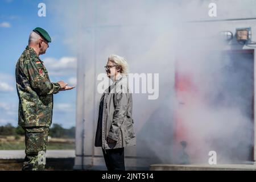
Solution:
[{"label": "open grey-olive jacket worn by the blonde woman", "polygon": [[[132,111],[133,98],[129,93],[128,79],[120,75],[102,94],[95,146],[111,149],[135,145]],[[107,137],[116,142],[108,143]]]}]

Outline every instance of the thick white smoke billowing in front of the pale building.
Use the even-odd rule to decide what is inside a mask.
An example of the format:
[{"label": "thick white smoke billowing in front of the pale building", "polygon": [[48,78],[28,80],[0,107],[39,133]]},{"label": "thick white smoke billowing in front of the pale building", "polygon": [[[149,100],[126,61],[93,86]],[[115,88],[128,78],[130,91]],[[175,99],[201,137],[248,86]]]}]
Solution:
[{"label": "thick white smoke billowing in front of the pale building", "polygon": [[[64,27],[64,42],[77,51],[79,60],[83,60],[79,67],[92,79],[104,72],[111,53],[124,56],[133,73],[159,73],[158,100],[147,100],[143,94],[133,97],[137,155],[150,157],[150,164],[182,163],[179,142],[183,139],[191,163],[208,163],[211,150],[217,152],[219,163],[241,163],[251,155],[253,125],[247,104],[252,98],[249,91],[241,89],[250,89],[252,85],[250,76],[245,76],[251,72],[250,56],[234,57],[223,52],[235,44],[222,42],[217,36],[229,27],[225,22],[189,22],[209,19],[206,15],[210,2],[220,7],[218,19],[244,18],[242,10],[253,3],[250,0],[51,3],[52,9],[57,7],[53,10]],[[248,12],[247,15],[255,15],[253,9]],[[243,63],[233,63],[235,59]],[[189,81],[184,85],[187,90],[175,92],[175,71],[179,76],[187,75]],[[242,80],[243,77],[247,80]],[[98,108],[100,95],[94,90],[94,84],[86,87],[85,100],[96,96],[95,105],[86,108],[87,113],[93,112],[93,107]],[[184,131],[179,138],[175,137],[179,130],[177,117],[182,121],[180,132]]]}]

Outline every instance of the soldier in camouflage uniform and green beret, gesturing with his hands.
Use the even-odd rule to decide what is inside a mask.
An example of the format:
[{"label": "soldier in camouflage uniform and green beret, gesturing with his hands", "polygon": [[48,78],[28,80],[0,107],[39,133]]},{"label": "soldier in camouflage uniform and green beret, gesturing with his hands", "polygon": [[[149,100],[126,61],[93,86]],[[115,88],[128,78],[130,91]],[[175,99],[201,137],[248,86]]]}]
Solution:
[{"label": "soldier in camouflage uniform and green beret, gesturing with his hands", "polygon": [[52,122],[53,94],[75,87],[64,81],[53,83],[39,55],[46,53],[51,37],[35,28],[28,46],[16,64],[16,89],[19,96],[18,124],[25,130],[26,157],[22,170],[44,170],[49,126]]}]

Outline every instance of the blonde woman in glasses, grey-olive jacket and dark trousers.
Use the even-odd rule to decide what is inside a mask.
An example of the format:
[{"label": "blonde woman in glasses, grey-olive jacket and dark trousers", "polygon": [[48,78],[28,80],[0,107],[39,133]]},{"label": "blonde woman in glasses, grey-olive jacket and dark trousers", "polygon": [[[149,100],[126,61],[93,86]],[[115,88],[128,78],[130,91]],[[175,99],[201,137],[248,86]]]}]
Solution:
[{"label": "blonde woman in glasses, grey-olive jacket and dark trousers", "polygon": [[109,171],[125,170],[124,147],[135,145],[133,101],[128,87],[127,61],[110,55],[105,66],[113,84],[102,94],[95,146],[102,147]]}]

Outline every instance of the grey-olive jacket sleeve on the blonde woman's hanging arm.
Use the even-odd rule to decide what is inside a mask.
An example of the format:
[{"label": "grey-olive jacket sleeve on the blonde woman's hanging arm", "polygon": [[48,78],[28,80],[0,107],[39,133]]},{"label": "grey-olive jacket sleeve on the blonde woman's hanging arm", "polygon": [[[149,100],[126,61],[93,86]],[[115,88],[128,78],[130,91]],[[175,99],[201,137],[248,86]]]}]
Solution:
[{"label": "grey-olive jacket sleeve on the blonde woman's hanging arm", "polygon": [[113,116],[112,126],[110,127],[108,137],[117,141],[119,138],[119,127],[121,127],[127,113],[127,105],[129,99],[129,93],[123,92],[125,89],[121,89],[121,92],[114,94],[115,111]]}]

